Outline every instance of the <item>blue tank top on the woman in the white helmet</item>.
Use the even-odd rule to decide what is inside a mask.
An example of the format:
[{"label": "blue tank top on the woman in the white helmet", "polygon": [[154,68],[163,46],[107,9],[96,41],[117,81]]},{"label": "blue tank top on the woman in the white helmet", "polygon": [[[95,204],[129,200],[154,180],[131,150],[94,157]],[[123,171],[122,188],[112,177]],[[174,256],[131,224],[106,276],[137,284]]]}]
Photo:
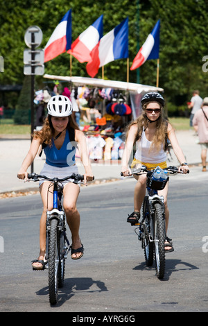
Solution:
[{"label": "blue tank top on the woman in the white helmet", "polygon": [[46,155],[46,164],[66,167],[75,164],[76,144],[69,139],[69,131],[67,130],[64,142],[60,149],[57,149],[52,139],[52,146],[46,146],[44,153]]}]

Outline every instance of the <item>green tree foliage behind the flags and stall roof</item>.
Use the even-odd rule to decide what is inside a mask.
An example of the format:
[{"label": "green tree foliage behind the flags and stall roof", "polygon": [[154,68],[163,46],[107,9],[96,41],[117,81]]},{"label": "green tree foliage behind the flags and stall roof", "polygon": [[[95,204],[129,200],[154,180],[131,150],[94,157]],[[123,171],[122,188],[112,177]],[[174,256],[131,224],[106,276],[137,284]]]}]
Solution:
[{"label": "green tree foliage behind the flags and stall roof", "polygon": [[[26,49],[24,34],[31,25],[42,29],[44,49],[64,14],[72,9],[73,41],[100,15],[103,14],[105,35],[125,17],[129,17],[130,67],[139,48],[161,21],[159,51],[159,87],[164,88],[167,102],[175,107],[190,100],[193,89],[200,89],[207,96],[207,74],[202,71],[202,58],[207,53],[207,0],[0,0],[0,55],[4,58],[4,73],[0,84],[22,84],[23,52]],[[139,42],[138,42],[139,41]],[[81,64],[72,58],[72,75],[88,77],[86,62]],[[126,60],[115,60],[105,65],[105,78],[126,80]],[[69,54],[62,53],[45,63],[45,73],[69,76]],[[156,85],[157,60],[148,60],[139,69],[130,71],[130,82]],[[101,69],[96,78],[101,78]],[[36,82],[46,81],[37,76]],[[38,86],[37,85],[37,86]],[[41,86],[42,87],[42,86]],[[177,103],[177,96],[184,103]]]}]

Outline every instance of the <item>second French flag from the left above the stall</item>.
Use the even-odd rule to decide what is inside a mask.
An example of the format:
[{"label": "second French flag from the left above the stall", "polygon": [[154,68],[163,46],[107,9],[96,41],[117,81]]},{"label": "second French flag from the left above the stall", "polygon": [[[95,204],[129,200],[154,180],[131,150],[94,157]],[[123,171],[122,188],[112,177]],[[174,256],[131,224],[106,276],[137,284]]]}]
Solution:
[{"label": "second French flag from the left above the stall", "polygon": [[103,15],[79,35],[71,44],[71,50],[68,53],[71,53],[79,62],[88,62],[91,59],[91,51],[101,37],[103,37]]}]

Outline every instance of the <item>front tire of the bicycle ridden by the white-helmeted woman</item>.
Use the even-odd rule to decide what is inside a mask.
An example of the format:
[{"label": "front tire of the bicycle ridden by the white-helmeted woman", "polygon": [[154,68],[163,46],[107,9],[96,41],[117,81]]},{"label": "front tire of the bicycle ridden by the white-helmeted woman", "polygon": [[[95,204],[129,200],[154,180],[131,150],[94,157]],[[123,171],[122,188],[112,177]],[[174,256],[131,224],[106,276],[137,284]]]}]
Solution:
[{"label": "front tire of the bicycle ridden by the white-helmeted woman", "polygon": [[51,304],[58,302],[58,220],[56,218],[50,221],[49,234],[49,301]]}]

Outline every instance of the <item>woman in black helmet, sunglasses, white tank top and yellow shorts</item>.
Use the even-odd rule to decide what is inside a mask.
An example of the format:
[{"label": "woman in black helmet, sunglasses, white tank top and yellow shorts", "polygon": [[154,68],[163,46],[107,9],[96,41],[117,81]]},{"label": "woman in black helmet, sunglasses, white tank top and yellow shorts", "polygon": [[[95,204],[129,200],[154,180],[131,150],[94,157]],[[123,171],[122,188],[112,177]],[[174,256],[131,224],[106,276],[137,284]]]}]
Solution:
[{"label": "woman in black helmet, sunglasses, white tank top and yellow shorts", "polygon": [[[148,170],[160,166],[162,169],[167,167],[166,164],[166,140],[171,141],[171,146],[180,162],[179,170],[187,173],[189,166],[185,162],[185,157],[180,148],[175,131],[171,123],[164,116],[164,98],[161,94],[150,92],[141,98],[142,114],[127,128],[125,150],[123,152],[121,172],[127,176],[131,174],[128,169],[128,162],[132,153],[132,148],[136,144],[135,157],[132,161],[131,168],[137,164],[144,164]],[[146,194],[146,175],[134,175],[137,179],[134,196],[134,212],[127,218],[127,222],[132,225],[139,221],[140,209],[144,196]],[[158,191],[159,195],[164,196],[165,215],[166,215],[166,234],[168,230],[169,211],[167,205],[168,182],[163,190]],[[173,251],[171,239],[166,239],[166,252]],[[169,245],[169,246],[168,246]]]}]

